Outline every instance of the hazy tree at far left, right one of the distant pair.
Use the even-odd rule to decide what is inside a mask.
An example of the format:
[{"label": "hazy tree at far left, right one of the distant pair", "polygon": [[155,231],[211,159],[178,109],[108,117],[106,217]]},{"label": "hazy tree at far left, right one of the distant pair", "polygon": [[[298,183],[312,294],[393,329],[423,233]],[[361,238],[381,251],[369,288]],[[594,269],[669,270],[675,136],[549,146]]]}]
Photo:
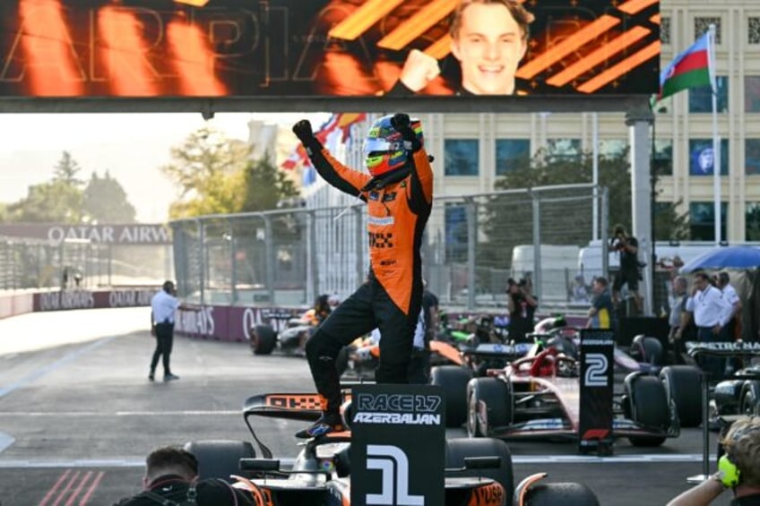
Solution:
[{"label": "hazy tree at far left, right one of the distant pair", "polygon": [[93,172],[84,188],[84,215],[91,222],[98,223],[134,223],[134,206],[126,197],[126,192],[119,182],[112,178],[108,170],[103,177]]}]

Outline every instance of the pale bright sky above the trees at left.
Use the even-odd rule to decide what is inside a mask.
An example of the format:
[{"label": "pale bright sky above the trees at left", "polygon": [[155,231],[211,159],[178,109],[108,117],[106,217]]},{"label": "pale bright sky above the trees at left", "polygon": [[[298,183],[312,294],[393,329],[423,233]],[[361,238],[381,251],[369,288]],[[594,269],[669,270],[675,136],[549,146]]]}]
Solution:
[{"label": "pale bright sky above the trees at left", "polygon": [[201,113],[0,114],[0,202],[17,202],[30,185],[49,181],[69,151],[85,181],[92,172],[103,176],[106,170],[117,179],[138,221],[164,222],[177,188],[159,167],[171,161],[172,147],[204,124],[246,141],[252,119],[293,124],[303,117],[315,115],[217,113],[206,122]]}]

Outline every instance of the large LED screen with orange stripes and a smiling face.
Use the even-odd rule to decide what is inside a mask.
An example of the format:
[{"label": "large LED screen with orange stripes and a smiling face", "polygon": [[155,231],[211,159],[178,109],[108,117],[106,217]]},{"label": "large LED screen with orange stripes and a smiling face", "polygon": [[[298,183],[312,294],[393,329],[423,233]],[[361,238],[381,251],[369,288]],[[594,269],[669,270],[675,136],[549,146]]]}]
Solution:
[{"label": "large LED screen with orange stripes and a smiling face", "polygon": [[3,0],[3,97],[650,94],[659,0]]}]

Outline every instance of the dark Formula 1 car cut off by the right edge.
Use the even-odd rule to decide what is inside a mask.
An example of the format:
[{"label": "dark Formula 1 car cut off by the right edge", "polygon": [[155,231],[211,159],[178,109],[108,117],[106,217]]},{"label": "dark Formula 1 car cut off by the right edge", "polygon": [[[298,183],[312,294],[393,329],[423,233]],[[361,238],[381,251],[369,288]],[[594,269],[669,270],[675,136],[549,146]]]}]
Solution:
[{"label": "dark Formula 1 car cut off by the right edge", "polygon": [[686,348],[689,356],[722,356],[747,364],[715,385],[711,419],[726,415],[760,415],[760,363],[757,363],[760,343],[687,342]]}]

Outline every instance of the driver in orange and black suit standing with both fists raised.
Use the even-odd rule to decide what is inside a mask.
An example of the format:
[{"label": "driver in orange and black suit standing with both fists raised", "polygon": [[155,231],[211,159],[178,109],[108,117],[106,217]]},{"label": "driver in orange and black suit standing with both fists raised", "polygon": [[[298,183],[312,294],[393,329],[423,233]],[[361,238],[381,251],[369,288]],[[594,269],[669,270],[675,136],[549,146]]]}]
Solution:
[{"label": "driver in orange and black suit standing with both fists raised", "polygon": [[433,206],[433,169],[418,119],[397,113],[369,128],[364,153],[369,174],[346,167],[325,150],[308,120],[293,125],[312,164],[327,183],[367,203],[369,271],[307,341],[307,360],[322,404],[310,438],[343,430],[341,383],[335,357],[357,336],[378,328],[378,383],[406,383],[414,330],[422,304],[419,246]]}]

